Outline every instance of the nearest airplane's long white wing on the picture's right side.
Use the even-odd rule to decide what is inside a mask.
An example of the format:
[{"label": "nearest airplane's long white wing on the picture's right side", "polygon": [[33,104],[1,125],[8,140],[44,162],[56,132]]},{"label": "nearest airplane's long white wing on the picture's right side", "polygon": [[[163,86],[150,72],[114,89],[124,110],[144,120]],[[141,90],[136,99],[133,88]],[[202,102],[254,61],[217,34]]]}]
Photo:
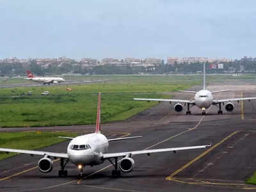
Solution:
[{"label": "nearest airplane's long white wing on the picture's right side", "polygon": [[134,150],[131,152],[120,152],[120,153],[113,153],[113,154],[103,154],[103,159],[109,159],[113,157],[125,157],[125,156],[134,156],[138,154],[152,154],[157,152],[176,152],[177,150],[189,150],[195,148],[206,148],[211,147],[211,145],[199,145],[199,146],[192,146],[192,147],[174,147],[174,148],[159,148],[159,149],[149,149],[149,150]]}]

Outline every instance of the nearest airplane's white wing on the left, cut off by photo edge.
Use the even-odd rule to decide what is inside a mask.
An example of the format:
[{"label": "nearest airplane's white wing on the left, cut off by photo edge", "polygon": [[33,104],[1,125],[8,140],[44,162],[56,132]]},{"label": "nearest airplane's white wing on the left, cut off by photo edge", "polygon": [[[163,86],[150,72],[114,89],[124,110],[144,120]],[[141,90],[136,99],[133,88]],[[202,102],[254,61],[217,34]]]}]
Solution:
[{"label": "nearest airplane's white wing on the left, cut off by photo edge", "polygon": [[68,159],[68,154],[63,153],[54,153],[54,152],[45,152],[39,150],[22,150],[22,149],[12,149],[12,148],[0,148],[0,152],[13,152],[19,154],[31,154],[31,155],[38,155],[38,156],[51,156],[51,157],[61,157]]}]

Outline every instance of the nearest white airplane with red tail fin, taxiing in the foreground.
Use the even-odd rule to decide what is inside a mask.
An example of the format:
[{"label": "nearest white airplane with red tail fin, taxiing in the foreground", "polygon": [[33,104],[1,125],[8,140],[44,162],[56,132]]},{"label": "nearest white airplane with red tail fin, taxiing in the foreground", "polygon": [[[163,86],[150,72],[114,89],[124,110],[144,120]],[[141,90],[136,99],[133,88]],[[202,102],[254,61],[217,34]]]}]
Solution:
[{"label": "nearest white airplane with red tail fin, taxiing in the foreground", "polygon": [[[20,150],[12,148],[0,148],[1,152],[15,152],[21,154],[30,154],[31,156],[39,155],[43,156],[42,159],[38,161],[38,169],[42,173],[48,173],[52,171],[52,158],[60,158],[61,170],[59,170],[59,177],[67,177],[68,172],[65,170],[65,166],[68,161],[71,161],[80,170],[79,177],[83,177],[84,166],[95,166],[97,164],[102,164],[104,161],[108,160],[114,166],[112,171],[113,177],[120,176],[120,170],[124,173],[131,172],[134,167],[134,159],[132,156],[137,154],[147,154],[150,156],[152,153],[157,152],[173,152],[176,153],[178,150],[191,150],[196,148],[206,148],[211,147],[211,145],[199,145],[192,147],[175,147],[175,148],[159,148],[150,150],[134,150],[129,152],[116,152],[108,153],[109,142],[119,141],[119,140],[129,140],[134,138],[141,138],[141,136],[132,136],[126,138],[114,138],[107,139],[104,134],[100,133],[100,93],[98,97],[98,107],[97,107],[97,121],[95,132],[91,134],[85,134],[83,136],[77,136],[76,138],[61,137],[70,139],[70,143],[67,147],[67,153],[56,153],[56,152],[46,152],[37,150]],[[121,157],[118,161],[118,157]],[[113,162],[115,161],[115,162]],[[118,170],[118,163],[120,170]]]}]

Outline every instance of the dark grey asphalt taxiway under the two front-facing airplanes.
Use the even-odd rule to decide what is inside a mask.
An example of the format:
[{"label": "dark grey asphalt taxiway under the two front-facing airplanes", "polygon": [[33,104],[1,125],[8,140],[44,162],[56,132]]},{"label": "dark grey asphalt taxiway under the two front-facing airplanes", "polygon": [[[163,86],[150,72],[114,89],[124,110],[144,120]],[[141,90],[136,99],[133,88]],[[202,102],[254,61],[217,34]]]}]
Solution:
[{"label": "dark grey asphalt taxiway under the two front-facing airplanes", "polygon": [[[256,86],[210,86],[210,90],[231,88],[231,92],[216,93],[216,98],[253,97]],[[195,88],[196,89],[196,88]],[[177,98],[189,99],[193,94],[177,93]],[[256,189],[245,184],[256,168],[255,115],[256,101],[234,103],[232,113],[223,110],[217,115],[215,106],[202,116],[200,109],[191,108],[191,115],[176,113],[173,106],[163,102],[124,122],[102,125],[108,138],[143,136],[134,140],[113,141],[109,152],[143,150],[146,148],[209,145],[211,148],[133,156],[134,170],[118,179],[111,177],[108,161],[86,167],[83,179],[71,163],[68,177],[59,178],[60,161],[51,173],[40,173],[36,164],[40,157],[21,154],[0,161],[0,191],[243,191]],[[94,127],[20,127],[0,131],[76,131],[92,132]],[[41,149],[42,150],[42,149]],[[44,148],[51,152],[66,152],[67,142]]]}]

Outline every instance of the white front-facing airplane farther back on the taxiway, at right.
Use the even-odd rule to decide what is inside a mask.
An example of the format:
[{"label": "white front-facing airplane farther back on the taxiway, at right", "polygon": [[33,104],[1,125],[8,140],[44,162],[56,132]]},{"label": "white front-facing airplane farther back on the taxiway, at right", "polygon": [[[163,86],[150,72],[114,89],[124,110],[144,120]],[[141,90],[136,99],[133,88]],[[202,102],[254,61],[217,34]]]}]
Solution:
[{"label": "white front-facing airplane farther back on the taxiway, at right", "polygon": [[246,97],[246,98],[234,98],[234,99],[213,99],[213,93],[220,93],[220,92],[228,92],[230,90],[219,90],[219,91],[214,91],[214,92],[210,92],[209,90],[206,89],[205,86],[205,63],[204,63],[204,87],[203,90],[200,90],[199,92],[191,92],[191,91],[179,91],[179,92],[186,92],[186,93],[195,93],[195,97],[194,100],[183,100],[183,99],[141,99],[141,98],[134,98],[134,100],[147,100],[148,102],[150,102],[150,100],[152,101],[158,101],[158,102],[170,102],[170,104],[172,104],[172,102],[175,102],[174,105],[174,109],[177,112],[180,112],[183,110],[183,106],[187,105],[187,111],[186,111],[186,115],[191,115],[191,111],[190,106],[197,106],[198,108],[202,109],[202,115],[206,115],[205,113],[205,109],[213,106],[216,106],[217,108],[219,108],[218,110],[218,115],[223,114],[223,111],[221,110],[221,104],[224,105],[225,102],[227,102],[227,104],[225,104],[225,109],[226,111],[233,111],[235,108],[234,101],[241,101],[241,100],[253,100],[256,99],[256,97]]}]

